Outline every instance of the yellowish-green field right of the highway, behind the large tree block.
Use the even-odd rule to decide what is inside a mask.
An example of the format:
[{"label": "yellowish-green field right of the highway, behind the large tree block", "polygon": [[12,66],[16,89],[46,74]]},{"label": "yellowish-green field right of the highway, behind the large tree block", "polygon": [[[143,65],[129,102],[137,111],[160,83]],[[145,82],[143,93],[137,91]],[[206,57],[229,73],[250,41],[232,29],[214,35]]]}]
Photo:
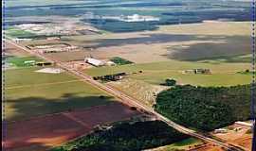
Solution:
[{"label": "yellowish-green field right of the highway, behind the large tree block", "polygon": [[[208,68],[212,74],[182,74],[182,71],[194,68]],[[166,78],[174,78],[179,84],[231,86],[250,83],[251,76],[237,74],[237,72],[245,71],[249,68],[249,63],[198,63],[170,60],[146,64],[91,68],[85,70],[84,73],[90,76],[103,76],[119,72],[134,73],[143,71],[140,74],[131,74],[129,77],[156,85],[163,83]]]}]

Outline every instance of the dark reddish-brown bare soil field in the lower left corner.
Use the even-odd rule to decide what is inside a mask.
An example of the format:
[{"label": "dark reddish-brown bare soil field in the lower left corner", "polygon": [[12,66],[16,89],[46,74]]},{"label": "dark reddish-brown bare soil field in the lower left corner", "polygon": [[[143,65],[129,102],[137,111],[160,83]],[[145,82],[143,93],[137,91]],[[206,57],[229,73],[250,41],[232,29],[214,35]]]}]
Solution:
[{"label": "dark reddish-brown bare soil field in the lower left corner", "polygon": [[94,126],[129,119],[140,113],[120,103],[7,123],[6,151],[46,151],[93,130]]}]

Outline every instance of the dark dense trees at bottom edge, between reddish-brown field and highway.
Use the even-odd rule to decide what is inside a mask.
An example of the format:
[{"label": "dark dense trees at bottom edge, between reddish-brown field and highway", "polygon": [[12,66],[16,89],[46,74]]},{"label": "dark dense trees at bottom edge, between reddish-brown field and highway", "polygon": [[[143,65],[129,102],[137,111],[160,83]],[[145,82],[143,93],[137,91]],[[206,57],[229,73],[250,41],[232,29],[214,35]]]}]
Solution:
[{"label": "dark dense trees at bottom edge, between reddish-brown field and highway", "polygon": [[99,130],[54,151],[139,151],[175,143],[188,136],[160,121],[120,124]]}]

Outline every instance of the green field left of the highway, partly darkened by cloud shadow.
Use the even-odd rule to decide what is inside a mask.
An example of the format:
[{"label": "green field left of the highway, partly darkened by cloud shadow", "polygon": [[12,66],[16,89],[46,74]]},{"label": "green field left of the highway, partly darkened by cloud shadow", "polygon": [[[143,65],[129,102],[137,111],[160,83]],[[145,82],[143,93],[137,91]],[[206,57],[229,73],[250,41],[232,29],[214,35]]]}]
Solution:
[{"label": "green field left of the highway, partly darkened by cloud shadow", "polygon": [[6,120],[83,109],[110,103],[106,93],[65,73],[35,73],[40,68],[22,68],[5,72]]}]

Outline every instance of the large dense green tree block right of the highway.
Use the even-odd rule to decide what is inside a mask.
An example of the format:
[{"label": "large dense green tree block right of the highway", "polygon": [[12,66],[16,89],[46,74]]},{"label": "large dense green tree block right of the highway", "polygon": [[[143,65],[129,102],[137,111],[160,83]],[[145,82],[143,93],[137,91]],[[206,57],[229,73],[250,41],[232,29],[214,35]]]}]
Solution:
[{"label": "large dense green tree block right of the highway", "polygon": [[155,109],[183,126],[212,130],[247,120],[250,116],[250,86],[176,86],[160,92]]}]

